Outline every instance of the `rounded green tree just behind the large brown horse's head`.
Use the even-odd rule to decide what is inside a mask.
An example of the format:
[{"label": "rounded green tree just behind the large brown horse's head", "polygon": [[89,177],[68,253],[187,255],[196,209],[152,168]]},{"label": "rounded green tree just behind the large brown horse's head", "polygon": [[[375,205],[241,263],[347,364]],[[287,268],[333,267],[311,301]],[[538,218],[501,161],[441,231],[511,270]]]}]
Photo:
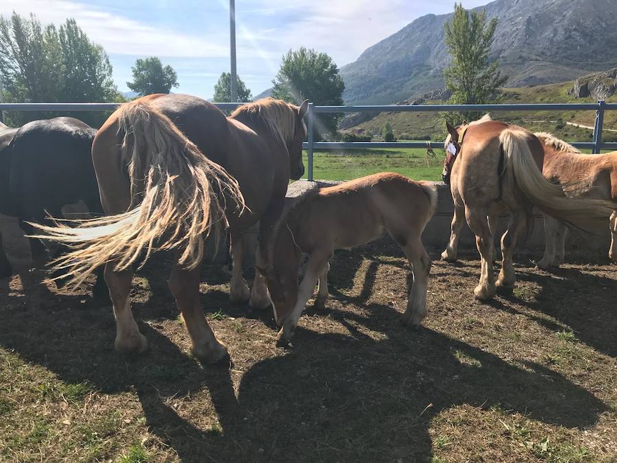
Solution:
[{"label": "rounded green tree just behind the large brown horse's head", "polygon": [[[280,70],[272,81],[272,97],[300,104],[309,99],[317,105],[343,104],[345,84],[332,58],[325,53],[301,47],[283,55]],[[341,114],[318,115],[315,136],[335,133]]]}]

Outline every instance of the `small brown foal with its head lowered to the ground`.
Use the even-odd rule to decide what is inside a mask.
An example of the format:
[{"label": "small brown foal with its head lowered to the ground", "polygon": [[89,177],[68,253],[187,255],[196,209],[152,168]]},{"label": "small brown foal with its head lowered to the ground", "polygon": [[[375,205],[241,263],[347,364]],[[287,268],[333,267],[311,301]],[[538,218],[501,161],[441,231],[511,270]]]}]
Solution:
[{"label": "small brown foal with its head lowered to the ground", "polygon": [[[420,235],[433,217],[437,191],[428,182],[400,174],[374,174],[306,193],[272,233],[265,276],[274,318],[282,327],[279,344],[287,344],[306,302],[319,291],[315,305],[328,297],[328,261],[335,249],[353,248],[380,237],[384,230],[400,245],[411,265],[413,287],[402,322],[419,324],[426,316],[426,284],[431,259]],[[298,287],[302,253],[309,254],[306,274]]]}]

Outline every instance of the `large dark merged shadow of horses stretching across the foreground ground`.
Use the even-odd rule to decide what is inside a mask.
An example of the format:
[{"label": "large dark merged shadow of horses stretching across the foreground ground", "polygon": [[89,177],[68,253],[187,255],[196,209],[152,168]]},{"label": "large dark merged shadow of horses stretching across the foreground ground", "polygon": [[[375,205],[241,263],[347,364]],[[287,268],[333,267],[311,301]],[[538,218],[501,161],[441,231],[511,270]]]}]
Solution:
[{"label": "large dark merged shadow of horses stretching across the foreground ground", "polygon": [[[75,310],[74,300],[60,299],[56,309],[0,309],[0,344],[62,381],[104,394],[135,392],[150,431],[184,462],[424,461],[433,453],[431,419],[456,405],[501,407],[570,428],[594,425],[607,409],[538,364],[519,368],[442,333],[404,329],[400,313],[384,305],[370,305],[367,317],[330,310],[357,329],[320,335],[298,328],[293,348],[248,362],[234,384],[236,367],[201,366],[142,322],[148,353],[120,357],[110,311]],[[234,348],[232,359],[241,355]],[[461,353],[473,365],[461,363]],[[212,409],[194,413],[217,416],[221,429],[199,427],[171,405],[179,397],[190,405],[204,390]]]}]

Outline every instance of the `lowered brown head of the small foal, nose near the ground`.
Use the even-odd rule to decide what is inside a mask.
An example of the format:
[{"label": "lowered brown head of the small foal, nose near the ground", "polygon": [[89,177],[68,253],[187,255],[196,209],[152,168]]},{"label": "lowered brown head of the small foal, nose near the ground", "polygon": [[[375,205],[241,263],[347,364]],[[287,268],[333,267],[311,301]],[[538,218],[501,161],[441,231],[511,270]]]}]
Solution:
[{"label": "lowered brown head of the small foal, nose near the ground", "polygon": [[274,320],[282,326],[298,301],[298,268],[302,252],[295,244],[293,233],[286,222],[279,224],[278,232],[273,237],[267,267],[256,269],[265,278],[274,309]]}]

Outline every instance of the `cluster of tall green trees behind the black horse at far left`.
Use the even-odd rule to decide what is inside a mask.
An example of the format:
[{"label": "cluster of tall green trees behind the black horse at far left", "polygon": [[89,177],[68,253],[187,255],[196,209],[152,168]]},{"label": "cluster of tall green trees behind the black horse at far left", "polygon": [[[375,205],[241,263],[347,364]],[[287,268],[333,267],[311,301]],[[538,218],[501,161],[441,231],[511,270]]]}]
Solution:
[{"label": "cluster of tall green trees behind the black horse at far left", "polygon": [[[0,16],[0,80],[5,102],[117,102],[112,67],[104,49],[88,39],[69,19],[60,26],[43,27],[34,14]],[[8,123],[73,115],[90,125],[102,123],[103,112],[10,111]]]}]

